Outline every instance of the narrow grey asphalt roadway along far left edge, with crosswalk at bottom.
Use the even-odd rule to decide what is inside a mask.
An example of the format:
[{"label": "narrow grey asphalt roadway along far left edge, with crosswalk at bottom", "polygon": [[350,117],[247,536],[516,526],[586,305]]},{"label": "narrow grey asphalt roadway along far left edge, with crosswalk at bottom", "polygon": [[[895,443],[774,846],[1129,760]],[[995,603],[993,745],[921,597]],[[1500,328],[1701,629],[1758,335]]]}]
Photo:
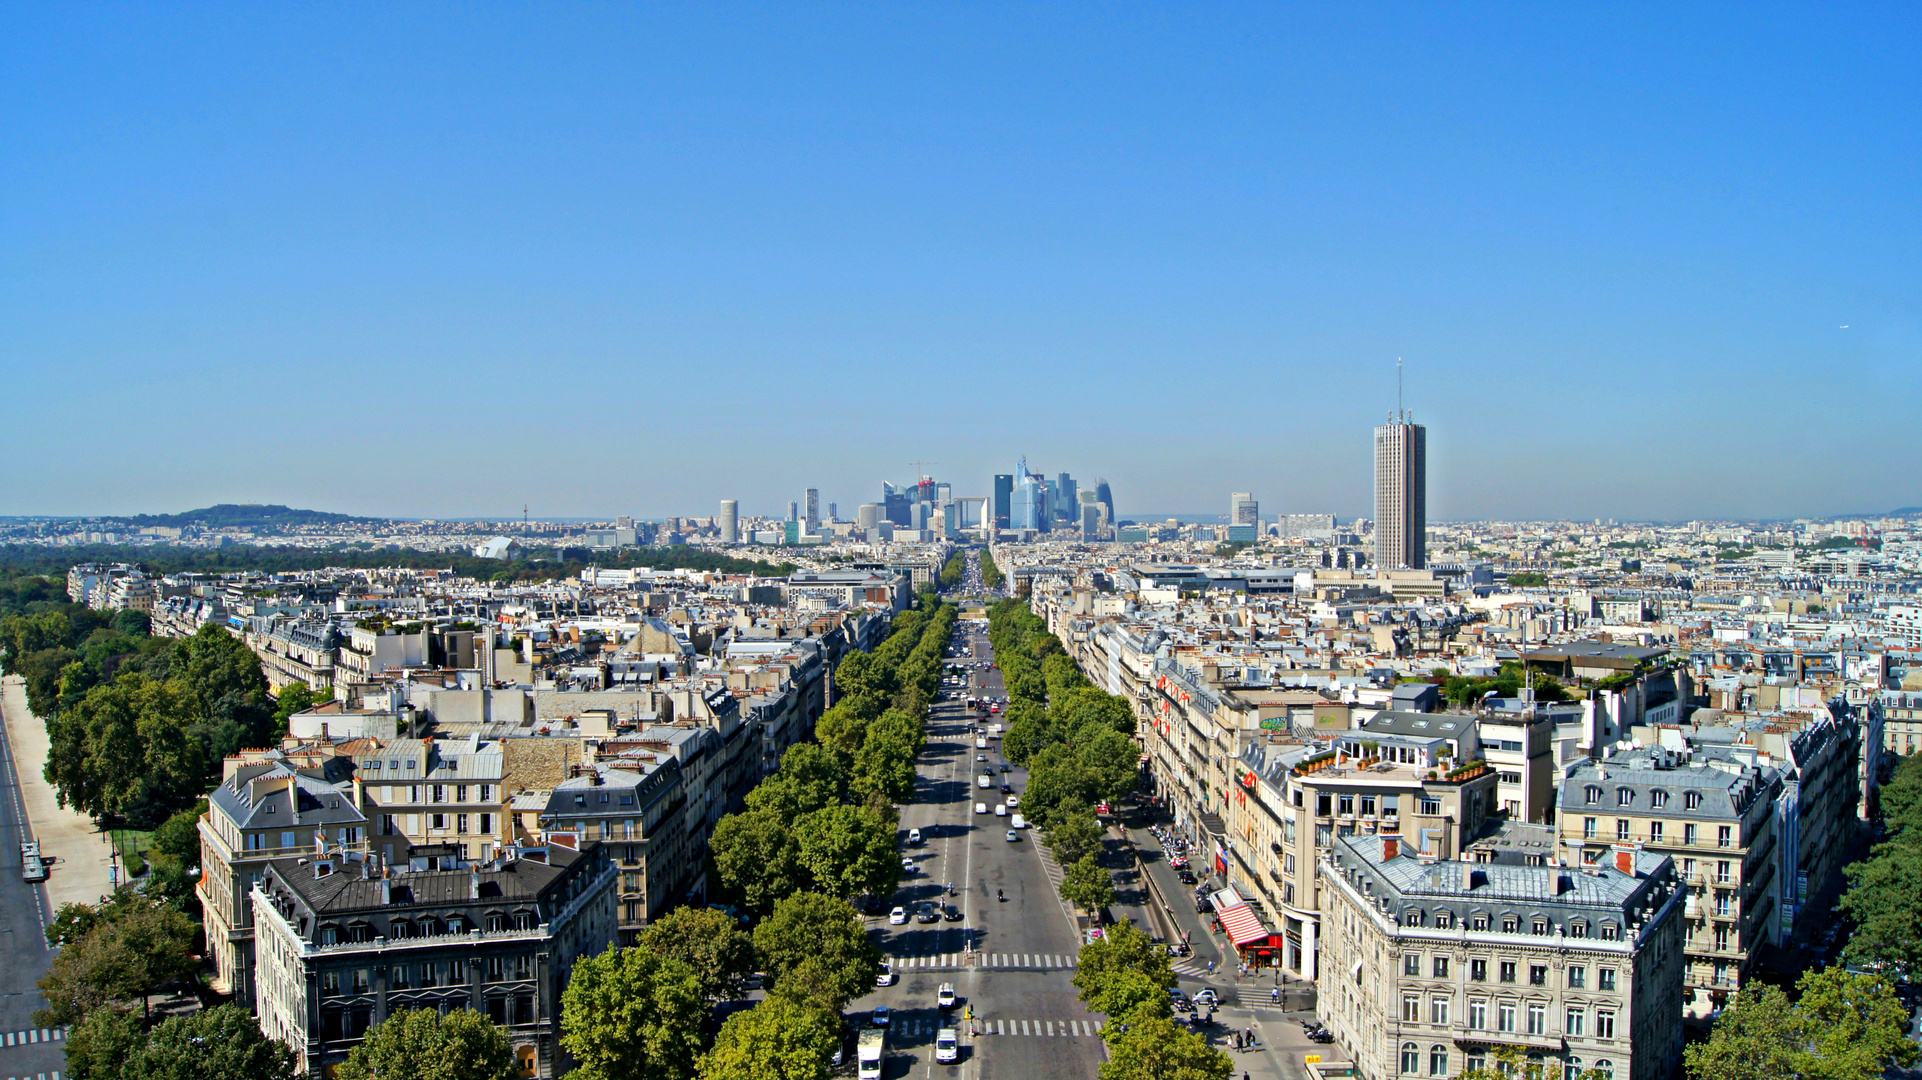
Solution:
[{"label": "narrow grey asphalt roadway along far left edge, with crosswalk at bottom", "polygon": [[[54,963],[40,928],[42,886],[21,880],[19,842],[31,834],[21,805],[13,748],[0,740],[0,1034],[35,1030],[38,978]],[[60,872],[60,871],[54,871]],[[38,1036],[35,1036],[38,1038]],[[4,1040],[0,1040],[4,1042]],[[15,1040],[19,1042],[19,1040]],[[0,1074],[40,1074],[65,1067],[63,1043],[29,1042],[0,1049]]]}]

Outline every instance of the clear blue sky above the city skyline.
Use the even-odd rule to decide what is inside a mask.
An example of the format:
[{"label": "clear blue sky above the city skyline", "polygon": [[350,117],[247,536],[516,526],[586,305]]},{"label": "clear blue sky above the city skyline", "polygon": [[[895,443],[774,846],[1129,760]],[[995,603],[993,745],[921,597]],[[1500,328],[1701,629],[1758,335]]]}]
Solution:
[{"label": "clear blue sky above the city skyline", "polygon": [[1922,6],[12,4],[0,513],[1922,503]]}]

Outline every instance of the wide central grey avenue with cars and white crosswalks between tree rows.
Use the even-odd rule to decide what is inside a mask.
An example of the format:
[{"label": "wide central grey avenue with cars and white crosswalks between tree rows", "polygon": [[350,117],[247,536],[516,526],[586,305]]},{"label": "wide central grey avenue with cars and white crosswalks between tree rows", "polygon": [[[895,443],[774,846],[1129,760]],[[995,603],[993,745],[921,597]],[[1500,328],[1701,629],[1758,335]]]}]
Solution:
[{"label": "wide central grey avenue with cars and white crosswalks between tree rows", "polygon": [[[1009,842],[1013,817],[994,815],[994,805],[1007,798],[999,790],[1003,778],[1021,794],[1026,771],[1001,773],[999,740],[976,748],[976,736],[967,734],[976,717],[965,698],[1005,696],[1001,673],[984,667],[992,661],[986,625],[957,623],[955,642],[969,644],[974,655],[953,655],[948,663],[973,665],[967,686],[944,686],[948,700],[928,717],[915,801],[901,809],[901,851],[915,859],[917,872],[901,882],[894,903],[909,913],[923,901],[953,903],[965,919],[905,926],[890,926],[886,915],[869,919],[898,978],[853,1001],[850,1019],[865,1024],[876,1005],[892,1009],[888,1080],[1086,1080],[1103,1061],[1097,1036],[1103,1019],[1080,1005],[1069,982],[1078,930],[1055,896],[1034,832]],[[976,761],[980,755],[988,761]],[[976,784],[982,771],[992,788]],[[974,803],[986,803],[988,813],[976,815]],[[907,844],[909,828],[921,830],[921,846]],[[953,882],[957,896],[946,896],[946,882]],[[996,890],[1007,899],[996,899]],[[944,982],[959,997],[946,1017],[936,1007]],[[973,1022],[965,1019],[969,1007]],[[934,1061],[934,1032],[942,1026],[961,1034],[961,1061],[953,1065]]]}]

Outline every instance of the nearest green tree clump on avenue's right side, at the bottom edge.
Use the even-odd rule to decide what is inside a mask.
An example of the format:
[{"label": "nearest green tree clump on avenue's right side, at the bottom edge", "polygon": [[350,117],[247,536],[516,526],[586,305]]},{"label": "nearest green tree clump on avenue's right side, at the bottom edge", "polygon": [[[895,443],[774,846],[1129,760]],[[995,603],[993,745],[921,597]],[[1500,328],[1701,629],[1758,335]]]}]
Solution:
[{"label": "nearest green tree clump on avenue's right side, at the bottom edge", "polygon": [[1101,1080],[1228,1080],[1228,1055],[1174,1022],[1172,988],[1169,951],[1132,922],[1117,922],[1082,945],[1074,990],[1090,1011],[1107,1017]]}]

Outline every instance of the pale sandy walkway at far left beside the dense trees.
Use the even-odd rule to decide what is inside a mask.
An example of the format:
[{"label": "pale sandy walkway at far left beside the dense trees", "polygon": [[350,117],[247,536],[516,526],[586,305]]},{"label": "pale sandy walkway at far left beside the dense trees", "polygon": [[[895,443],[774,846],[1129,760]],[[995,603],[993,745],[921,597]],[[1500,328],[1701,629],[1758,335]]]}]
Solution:
[{"label": "pale sandy walkway at far left beside the dense trees", "polygon": [[113,865],[113,846],[94,828],[92,819],[62,809],[54,798],[54,786],[42,774],[48,755],[46,724],[27,709],[27,684],[17,676],[6,676],[0,686],[0,717],[6,721],[27,828],[40,842],[40,851],[56,859],[44,886],[50,907],[40,913],[40,922],[46,924],[63,903],[100,903],[111,892],[108,869]]}]

